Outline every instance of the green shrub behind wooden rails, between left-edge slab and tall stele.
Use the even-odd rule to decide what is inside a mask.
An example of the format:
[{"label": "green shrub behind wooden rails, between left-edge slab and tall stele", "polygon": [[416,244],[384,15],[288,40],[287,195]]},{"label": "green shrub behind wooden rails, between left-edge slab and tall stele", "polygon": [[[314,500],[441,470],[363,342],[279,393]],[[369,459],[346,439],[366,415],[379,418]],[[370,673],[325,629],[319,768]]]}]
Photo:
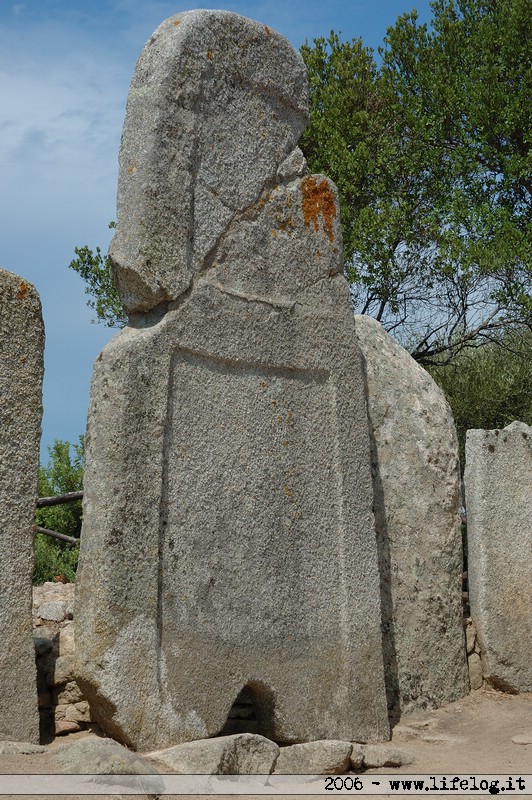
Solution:
[{"label": "green shrub behind wooden rails, between left-edge slab and tall stele", "polygon": [[[51,497],[83,489],[84,443],[80,436],[78,444],[71,445],[56,439],[48,448],[50,460],[39,468],[39,497]],[[81,533],[81,502],[65,503],[35,512],[35,523],[42,528],[79,537]],[[76,574],[79,548],[43,534],[35,536],[34,584],[51,581],[63,576],[73,581]]]}]

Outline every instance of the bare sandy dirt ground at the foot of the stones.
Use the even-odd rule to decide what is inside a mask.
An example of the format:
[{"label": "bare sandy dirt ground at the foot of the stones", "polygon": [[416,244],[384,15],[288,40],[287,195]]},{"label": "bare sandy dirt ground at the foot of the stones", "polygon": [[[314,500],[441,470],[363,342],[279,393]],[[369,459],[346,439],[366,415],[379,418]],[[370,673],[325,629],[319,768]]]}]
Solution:
[{"label": "bare sandy dirt ground at the foot of the stones", "polygon": [[[81,732],[58,737],[45,753],[0,756],[0,774],[53,773],[50,766],[53,749],[86,736],[94,734]],[[524,736],[531,743],[515,743],[512,738],[516,736]],[[509,695],[481,689],[443,708],[404,717],[394,729],[392,743],[412,752],[415,762],[403,767],[368,770],[361,773],[362,779],[379,774],[529,775],[527,788],[520,794],[532,795],[532,693]],[[155,762],[154,766],[162,771]],[[330,793],[324,791],[323,794]],[[373,795],[374,798],[382,796]],[[457,800],[467,796],[472,795],[438,792],[442,799]],[[9,795],[0,795],[0,800],[7,797]],[[32,797],[40,800],[44,795]]]}]

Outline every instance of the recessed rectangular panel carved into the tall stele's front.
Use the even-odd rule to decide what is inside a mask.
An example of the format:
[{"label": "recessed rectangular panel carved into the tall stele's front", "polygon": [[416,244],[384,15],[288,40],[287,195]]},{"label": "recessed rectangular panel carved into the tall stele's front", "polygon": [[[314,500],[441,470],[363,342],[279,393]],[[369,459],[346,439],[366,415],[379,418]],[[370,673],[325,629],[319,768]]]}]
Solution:
[{"label": "recessed rectangular panel carved into the tall stele's front", "polygon": [[177,654],[191,632],[231,646],[303,644],[337,628],[341,479],[328,374],[179,352],[170,395],[163,644]]}]

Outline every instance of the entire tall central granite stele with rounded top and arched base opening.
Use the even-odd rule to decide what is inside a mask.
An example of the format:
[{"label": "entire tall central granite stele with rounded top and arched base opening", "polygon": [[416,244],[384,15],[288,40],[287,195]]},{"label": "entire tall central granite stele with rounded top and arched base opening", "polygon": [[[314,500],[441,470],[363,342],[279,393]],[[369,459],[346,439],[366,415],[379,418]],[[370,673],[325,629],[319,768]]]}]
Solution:
[{"label": "entire tall central granite stele with rounded top and arched base opening", "polygon": [[306,174],[299,55],[180,14],[128,100],[111,248],[130,324],[95,365],[77,677],[141,749],[389,736],[369,431],[336,190]]}]

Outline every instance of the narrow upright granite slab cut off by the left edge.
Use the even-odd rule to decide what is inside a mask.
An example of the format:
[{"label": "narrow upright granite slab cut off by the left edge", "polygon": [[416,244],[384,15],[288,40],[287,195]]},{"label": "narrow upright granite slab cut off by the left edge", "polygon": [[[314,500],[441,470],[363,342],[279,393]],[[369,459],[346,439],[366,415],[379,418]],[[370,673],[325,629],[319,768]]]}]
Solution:
[{"label": "narrow upright granite slab cut off by the left edge", "polygon": [[25,742],[39,741],[31,576],[43,348],[37,292],[0,269],[0,739]]}]

